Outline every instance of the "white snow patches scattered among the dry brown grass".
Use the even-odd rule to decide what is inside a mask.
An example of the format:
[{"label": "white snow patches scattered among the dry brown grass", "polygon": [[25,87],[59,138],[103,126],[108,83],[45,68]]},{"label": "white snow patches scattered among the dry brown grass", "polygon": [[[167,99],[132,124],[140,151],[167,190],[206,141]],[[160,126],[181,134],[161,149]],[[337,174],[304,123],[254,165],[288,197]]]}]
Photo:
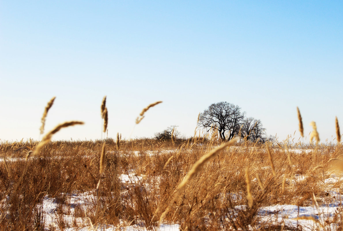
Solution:
[{"label": "white snow patches scattered among the dry brown grass", "polygon": [[[258,149],[249,147],[230,147],[230,150],[238,150],[242,152],[256,151]],[[259,149],[262,150],[262,149]],[[258,150],[258,151],[259,151]],[[188,150],[192,151],[192,150]],[[289,149],[290,153],[295,155],[307,154],[311,152],[318,152],[320,154],[324,153],[324,150],[314,150],[314,149]],[[286,153],[286,151],[283,150]],[[110,152],[109,152],[110,153]],[[144,150],[144,151],[126,151],[126,156],[148,156],[154,157],[155,155],[171,155],[175,154],[175,149],[164,149],[164,150]],[[60,158],[52,157],[52,158]],[[67,158],[68,156],[64,156]],[[84,156],[82,158],[89,159],[93,158],[92,155]],[[4,159],[0,159],[3,161]],[[7,162],[24,161],[25,158],[20,157],[7,157],[5,158]],[[270,166],[264,166],[264,169],[270,169]],[[119,174],[119,182],[122,185],[123,191],[125,188],[131,188],[134,185],[144,185],[145,188],[159,187],[158,176],[154,180],[156,185],[149,185],[146,182],[146,178],[149,176],[140,174],[138,175],[137,170],[130,169]],[[305,181],[309,176],[308,174],[295,174],[292,178],[285,178],[288,187],[294,187],[294,185],[299,182]],[[257,178],[252,178],[253,182],[257,182]],[[142,183],[144,182],[144,183]],[[283,230],[294,230],[301,227],[302,230],[337,230],[339,228],[339,217],[343,211],[342,200],[343,195],[340,186],[343,183],[343,177],[340,174],[329,174],[325,178],[318,180],[318,185],[322,188],[326,188],[320,195],[313,195],[314,200],[308,206],[296,206],[292,204],[275,204],[273,206],[261,206],[258,209],[258,217],[261,222],[278,224],[283,226]],[[232,198],[242,199],[245,198],[246,192],[242,192],[240,195],[230,194]],[[134,222],[129,221],[119,221],[119,224],[113,226],[111,224],[102,224],[97,227],[95,224],[91,223],[91,219],[87,217],[86,211],[94,208],[94,204],[97,201],[95,189],[87,192],[77,192],[75,191],[71,195],[64,195],[66,200],[63,202],[63,209],[59,208],[61,203],[58,203],[59,199],[50,197],[49,195],[44,196],[42,200],[42,206],[40,207],[45,223],[46,230],[66,230],[66,231],[88,231],[88,230],[130,230],[130,231],[143,231],[148,230],[145,227],[143,220],[135,220]],[[92,207],[93,206],[93,207]],[[245,205],[236,206],[232,210],[233,217],[238,215],[238,212],[244,212],[247,207]],[[77,214],[76,210],[83,211],[84,214]],[[61,212],[61,211],[68,211]],[[205,216],[204,219],[211,219],[210,216]],[[228,218],[226,218],[228,219]],[[59,222],[61,220],[64,222],[63,229],[59,229]],[[134,224],[132,224],[134,223]],[[162,223],[158,227],[154,227],[154,230],[158,231],[176,231],[180,230],[180,225],[176,223]],[[224,230],[224,229],[223,229]],[[250,230],[254,230],[252,227]]]}]

